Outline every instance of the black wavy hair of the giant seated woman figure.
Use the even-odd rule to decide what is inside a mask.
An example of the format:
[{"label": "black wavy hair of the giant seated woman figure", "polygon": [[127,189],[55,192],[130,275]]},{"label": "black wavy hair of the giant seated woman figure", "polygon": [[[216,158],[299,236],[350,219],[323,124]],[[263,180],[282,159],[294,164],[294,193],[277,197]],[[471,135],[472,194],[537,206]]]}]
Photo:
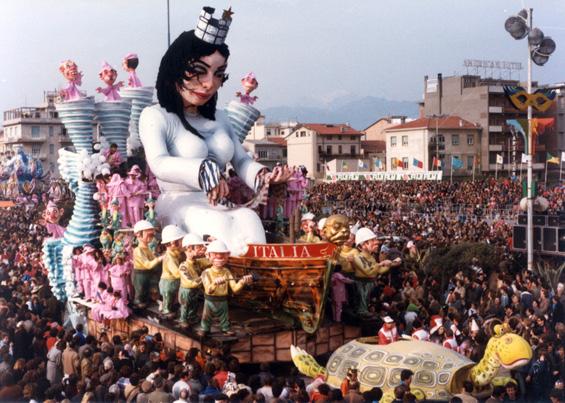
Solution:
[{"label": "black wavy hair of the giant seated woman figure", "polygon": [[[184,128],[198,137],[202,136],[188,123],[184,116],[182,97],[178,92],[177,85],[183,84],[190,62],[194,62],[204,56],[210,56],[216,51],[224,56],[226,60],[230,55],[226,44],[211,45],[194,36],[194,30],[183,32],[165,52],[159,65],[159,73],[157,74],[155,87],[157,88],[159,105],[165,108],[167,112],[177,115]],[[198,112],[206,119],[215,120],[217,102],[218,94],[216,93],[208,102],[197,108]]]}]

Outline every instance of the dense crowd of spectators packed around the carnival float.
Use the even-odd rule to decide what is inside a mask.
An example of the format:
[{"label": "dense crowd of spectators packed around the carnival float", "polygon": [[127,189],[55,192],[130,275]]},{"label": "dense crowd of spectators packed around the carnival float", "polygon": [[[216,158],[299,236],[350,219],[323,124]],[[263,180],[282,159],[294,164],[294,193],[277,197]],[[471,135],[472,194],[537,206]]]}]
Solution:
[{"label": "dense crowd of spectators packed around the carnival float", "polygon": [[[488,185],[493,189],[482,188]],[[506,245],[507,224],[496,226],[480,214],[452,218],[437,207],[444,198],[452,203],[468,200],[484,209],[493,195],[497,205],[512,206],[520,189],[507,182],[323,184],[310,192],[308,207],[322,216],[321,209],[332,202],[352,201],[340,212],[384,234],[414,239],[416,244],[417,238],[430,237],[438,244],[450,244],[459,236]],[[561,190],[554,189],[548,196],[559,206],[557,210],[562,208]],[[419,203],[417,211],[406,211]],[[381,398],[378,388],[361,393],[357,382],[332,388],[300,376],[288,365],[240,365],[228,351],[170,350],[164,335],[149,334],[146,328],[127,337],[88,335],[85,326],[68,320],[64,305],[50,292],[41,263],[45,231],[36,224],[39,210],[0,209],[0,401],[372,402]],[[376,320],[366,321],[365,331],[377,335],[381,319],[388,318],[398,335],[417,333],[444,346],[453,339],[452,348],[478,361],[492,324],[506,321],[530,342],[534,357],[528,366],[508,374],[515,381],[495,389],[493,398],[563,401],[562,283],[552,288],[533,272],[503,264],[489,271],[474,261],[442,286],[436,274],[408,264],[413,248],[401,242],[398,246],[403,263],[375,281],[371,309]],[[387,257],[385,247],[381,247],[382,259]],[[352,297],[349,301],[354,304]],[[409,382],[400,386],[397,401],[414,401]]]}]

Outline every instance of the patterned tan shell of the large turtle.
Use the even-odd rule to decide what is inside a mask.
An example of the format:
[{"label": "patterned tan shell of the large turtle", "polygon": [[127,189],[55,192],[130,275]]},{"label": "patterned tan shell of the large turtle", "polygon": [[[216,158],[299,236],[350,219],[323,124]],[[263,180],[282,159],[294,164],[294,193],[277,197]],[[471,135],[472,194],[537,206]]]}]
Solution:
[{"label": "patterned tan shell of the large turtle", "polygon": [[347,370],[357,368],[362,391],[378,386],[386,392],[398,386],[400,372],[409,369],[414,372],[411,388],[422,390],[427,399],[448,400],[457,372],[473,365],[464,355],[435,343],[400,340],[379,345],[375,338],[365,338],[334,351],[326,366],[327,383],[339,388]]}]

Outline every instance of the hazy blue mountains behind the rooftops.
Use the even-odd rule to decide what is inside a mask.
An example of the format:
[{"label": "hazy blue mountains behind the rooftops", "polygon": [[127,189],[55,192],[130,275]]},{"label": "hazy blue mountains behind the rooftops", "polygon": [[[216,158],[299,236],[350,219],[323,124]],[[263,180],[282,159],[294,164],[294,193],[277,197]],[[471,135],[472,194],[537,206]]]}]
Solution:
[{"label": "hazy blue mountains behind the rooftops", "polygon": [[267,122],[348,123],[363,130],[385,116],[418,116],[418,103],[365,96],[343,96],[329,102],[299,100],[299,106],[274,106],[261,110]]}]

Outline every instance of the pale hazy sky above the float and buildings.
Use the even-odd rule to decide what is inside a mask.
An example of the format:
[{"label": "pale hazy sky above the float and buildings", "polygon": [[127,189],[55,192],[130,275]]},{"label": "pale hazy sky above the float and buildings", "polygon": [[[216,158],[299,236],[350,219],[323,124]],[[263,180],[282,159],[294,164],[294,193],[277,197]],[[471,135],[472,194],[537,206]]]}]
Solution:
[{"label": "pale hazy sky above the float and buildings", "polygon": [[[565,81],[563,0],[170,0],[172,39],[194,28],[204,5],[235,12],[221,103],[248,71],[259,80],[261,109],[342,96],[418,101],[424,75],[464,73],[464,59],[525,67],[525,41],[504,31],[523,7],[534,8],[534,25],[557,42],[534,79]],[[104,60],[126,79],[120,64],[128,52],[138,53],[138,74],[152,85],[166,46],[166,0],[2,0],[0,110],[37,105],[43,90],[61,88],[58,65],[67,58],[91,95]]]}]

